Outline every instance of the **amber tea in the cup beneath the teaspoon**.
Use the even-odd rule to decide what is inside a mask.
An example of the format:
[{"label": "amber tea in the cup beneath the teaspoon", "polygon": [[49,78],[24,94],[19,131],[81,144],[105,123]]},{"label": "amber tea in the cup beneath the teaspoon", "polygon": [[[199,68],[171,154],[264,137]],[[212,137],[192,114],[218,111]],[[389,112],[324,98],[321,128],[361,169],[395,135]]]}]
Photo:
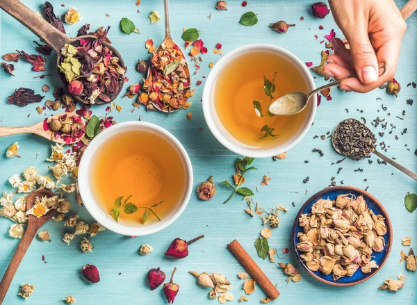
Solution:
[{"label": "amber tea in the cup beneath the teaspoon", "polygon": [[265,114],[270,98],[263,90],[263,76],[272,81],[275,72],[275,99],[293,91],[309,91],[292,63],[275,53],[261,51],[237,56],[223,71],[215,81],[215,110],[236,140],[251,147],[268,147],[287,142],[301,131],[308,109],[297,115],[268,117],[266,124],[279,136],[259,139],[265,117],[257,116],[253,106],[254,100],[259,101]]}]

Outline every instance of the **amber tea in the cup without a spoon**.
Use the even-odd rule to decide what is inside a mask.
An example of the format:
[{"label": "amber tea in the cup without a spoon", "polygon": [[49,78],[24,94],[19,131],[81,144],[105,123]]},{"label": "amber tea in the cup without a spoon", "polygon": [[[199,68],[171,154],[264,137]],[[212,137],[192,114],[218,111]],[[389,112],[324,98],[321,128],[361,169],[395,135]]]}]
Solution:
[{"label": "amber tea in the cup without a spoon", "polygon": [[[177,208],[186,185],[186,171],[177,150],[167,140],[149,131],[126,131],[109,138],[99,147],[92,162],[90,184],[95,200],[110,215],[117,197],[136,206],[153,208],[163,220]],[[120,213],[119,222],[142,223],[143,209],[126,215]],[[157,222],[149,216],[147,224]]]}]

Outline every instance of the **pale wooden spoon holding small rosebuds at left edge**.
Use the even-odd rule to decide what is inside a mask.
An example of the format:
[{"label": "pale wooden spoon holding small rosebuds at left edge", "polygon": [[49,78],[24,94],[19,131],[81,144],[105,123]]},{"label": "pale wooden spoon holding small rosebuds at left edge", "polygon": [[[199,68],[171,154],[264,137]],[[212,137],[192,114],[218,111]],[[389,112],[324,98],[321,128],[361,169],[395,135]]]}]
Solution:
[{"label": "pale wooden spoon holding small rosebuds at left edge", "polygon": [[[59,115],[54,115],[52,117],[48,118],[48,122],[51,121],[51,119],[57,119],[58,117],[62,115],[67,115],[67,117],[81,117],[75,113],[61,113]],[[81,122],[83,122],[83,125],[85,126],[85,122],[83,119],[81,119]],[[55,138],[53,136],[54,131],[51,131],[51,129],[44,130],[44,121],[39,122],[38,124],[31,125],[31,126],[24,126],[24,127],[0,127],[0,138],[6,137],[6,135],[17,135],[19,133],[34,133],[35,135],[40,135],[41,137],[51,140],[53,142],[59,143],[59,144],[74,144],[76,142],[79,142],[81,140],[82,135],[79,138],[76,138],[72,142],[65,142],[63,138]]]}]

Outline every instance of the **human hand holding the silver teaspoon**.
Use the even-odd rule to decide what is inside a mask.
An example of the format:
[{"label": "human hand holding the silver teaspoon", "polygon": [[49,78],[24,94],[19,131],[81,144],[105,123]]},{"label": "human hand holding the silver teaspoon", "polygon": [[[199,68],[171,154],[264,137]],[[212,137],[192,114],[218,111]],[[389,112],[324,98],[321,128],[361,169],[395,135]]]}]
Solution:
[{"label": "human hand holding the silver teaspoon", "polygon": [[[341,90],[369,92],[393,79],[407,28],[393,0],[329,0],[336,24],[349,42],[350,50],[332,40],[334,54],[327,57],[323,72],[343,79],[356,72],[359,79],[345,79]],[[386,63],[379,76],[378,63]]]}]

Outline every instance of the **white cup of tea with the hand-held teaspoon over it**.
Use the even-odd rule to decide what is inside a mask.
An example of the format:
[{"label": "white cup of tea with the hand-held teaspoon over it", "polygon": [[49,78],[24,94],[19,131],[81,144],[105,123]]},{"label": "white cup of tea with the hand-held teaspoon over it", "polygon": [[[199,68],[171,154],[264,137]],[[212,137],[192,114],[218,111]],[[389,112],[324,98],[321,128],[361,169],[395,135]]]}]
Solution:
[{"label": "white cup of tea with the hand-held teaspoon over it", "polygon": [[[275,72],[272,99],[263,89],[263,76],[272,81]],[[293,53],[272,44],[245,45],[223,56],[208,74],[202,97],[204,117],[215,138],[236,154],[276,156],[291,149],[309,131],[317,97],[311,97],[302,113],[287,117],[268,116],[268,102],[314,88],[309,69]],[[255,110],[255,101],[260,101],[261,112]],[[264,125],[274,131],[261,139]]]}]

